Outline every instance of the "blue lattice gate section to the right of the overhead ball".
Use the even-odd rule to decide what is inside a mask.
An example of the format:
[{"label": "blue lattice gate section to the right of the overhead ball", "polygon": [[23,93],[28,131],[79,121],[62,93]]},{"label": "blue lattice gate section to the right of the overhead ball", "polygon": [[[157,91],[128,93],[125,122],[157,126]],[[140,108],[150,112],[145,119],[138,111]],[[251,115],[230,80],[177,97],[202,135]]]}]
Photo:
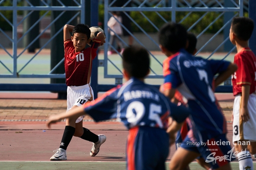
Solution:
[{"label": "blue lattice gate section to the right of the overhead ball", "polygon": [[[153,11],[153,12],[159,12],[159,11],[172,11],[172,21],[176,21],[176,16],[175,16],[175,12],[177,12],[177,11],[190,11],[190,12],[208,12],[208,11],[214,11],[214,12],[222,12],[222,14],[219,16],[219,17],[221,17],[225,12],[238,12],[239,13],[239,16],[243,16],[243,1],[242,0],[239,0],[239,4],[237,5],[235,5],[236,7],[234,7],[234,8],[225,8],[224,6],[222,6],[221,5],[221,8],[216,8],[216,7],[213,7],[213,8],[192,8],[191,6],[189,6],[188,8],[186,8],[186,7],[182,7],[182,8],[178,8],[177,7],[177,1],[176,0],[172,0],[171,2],[170,2],[170,4],[171,4],[171,7],[161,7],[161,8],[158,8],[158,5],[160,5],[160,3],[159,4],[157,4],[156,6],[154,6],[154,7],[142,7],[143,5],[144,5],[144,3],[146,2],[146,1],[144,1],[139,7],[125,7],[126,5],[124,5],[122,8],[120,8],[120,7],[111,7],[111,5],[114,3],[115,1],[113,1],[112,3],[110,3],[110,4],[108,4],[108,1],[105,1],[104,2],[104,20],[105,20],[105,25],[104,25],[104,30],[108,30],[108,29],[110,29],[108,26],[107,26],[107,21],[108,21],[108,18],[109,18],[109,16],[112,16],[112,14],[110,13],[111,11],[122,11],[122,12],[124,12],[126,15],[127,15],[127,13],[126,12],[128,12],[128,11],[140,11],[140,13],[142,14],[142,16],[143,16],[143,13],[142,13],[142,11]],[[128,2],[126,3],[126,4],[128,4],[130,2],[130,0],[128,0]],[[161,1],[162,2],[162,1]],[[234,3],[234,2],[233,2]],[[255,4],[255,2],[253,2],[254,4]],[[130,18],[130,20],[131,21],[133,21],[134,23],[135,23],[135,21],[129,16],[129,15],[127,15],[128,16],[128,18]],[[189,16],[189,15],[188,15]],[[186,17],[188,17],[188,16],[186,16]],[[146,18],[146,16],[144,16],[145,18]],[[203,17],[203,16],[202,16]],[[201,17],[201,18],[202,18]],[[256,16],[254,16],[254,17],[256,17]],[[216,20],[217,20],[218,18],[216,18]],[[118,21],[119,22],[119,21]],[[231,20],[229,20],[228,21],[228,23],[230,23],[231,22]],[[208,25],[208,27],[210,27],[212,24],[214,23],[214,21],[210,24],[210,25]],[[212,39],[214,39],[214,37],[216,37],[216,35],[218,35],[218,33],[220,33],[225,27],[226,27],[226,25],[228,25],[228,23],[225,23],[224,24],[224,26],[208,41],[208,42],[210,42]],[[136,23],[135,23],[136,24]],[[120,23],[120,25],[122,25],[122,23]],[[142,31],[142,32],[144,32],[144,34],[145,35],[147,35],[147,33],[138,25],[138,24],[136,24],[139,28],[140,28],[140,30]],[[152,23],[152,25],[154,26],[154,23]],[[196,23],[194,24],[194,25],[196,25]],[[189,29],[192,29],[192,27],[194,27],[194,25],[192,25]],[[124,27],[124,25],[122,25],[122,27]],[[207,28],[208,28],[207,27]],[[206,28],[206,29],[207,29]],[[203,32],[205,32],[206,31],[206,29],[203,31]],[[128,30],[126,30],[126,31],[128,31]],[[128,31],[129,32],[129,31]],[[203,33],[202,32],[202,33]],[[202,35],[202,33],[201,34],[199,34],[198,35],[198,37],[200,37],[200,35]],[[106,33],[106,35],[108,35],[108,33]],[[132,35],[132,34],[131,34]],[[118,35],[116,35],[121,41],[123,41]],[[132,35],[133,36],[133,38],[135,39],[135,41],[137,41],[140,45],[142,45],[142,43],[140,43],[140,41],[138,40],[138,39],[136,39],[136,37],[134,37],[134,35]],[[228,39],[225,39],[224,40],[224,42],[223,43],[225,43],[226,41],[228,41]],[[124,42],[123,42],[124,43]],[[223,44],[222,43],[222,44]],[[221,45],[222,45],[221,44]],[[122,75],[108,75],[108,62],[110,62],[110,63],[112,63],[113,64],[113,62],[110,60],[110,59],[108,59],[108,55],[107,55],[107,51],[108,51],[108,39],[106,39],[106,45],[104,46],[104,77],[105,78],[122,78]],[[220,46],[221,46],[220,45]],[[143,46],[143,45],[142,45]],[[213,52],[213,53],[215,53],[219,48],[220,48],[220,46]],[[203,47],[202,47],[203,48]],[[234,49],[235,49],[235,47],[234,48],[232,48],[229,52],[228,52],[228,54],[224,57],[224,59],[232,52],[232,51],[234,51]],[[200,52],[202,49],[200,49],[198,52]],[[118,53],[118,51],[116,51],[117,53]],[[149,51],[150,52],[150,51]],[[212,53],[212,54],[213,54]],[[150,54],[150,55],[152,55],[152,54]],[[154,55],[152,55],[153,57],[154,57]],[[210,55],[209,56],[209,58],[211,57],[212,55]],[[95,61],[94,60],[94,63],[97,63],[98,64],[98,61]],[[160,63],[161,64],[161,63]],[[96,65],[96,64],[95,64]],[[94,65],[94,66],[95,66]],[[113,64],[114,65],[114,64]],[[117,68],[117,67],[116,67]],[[96,66],[95,66],[95,68],[93,67],[92,68],[93,69],[93,71],[92,72],[97,72],[98,73],[98,68],[96,68]],[[118,68],[117,68],[118,69]],[[119,70],[119,69],[118,69]],[[162,78],[162,75],[153,75],[153,76],[149,76],[148,78]],[[103,84],[98,84],[98,76],[97,77],[94,77],[94,76],[92,76],[92,78],[91,78],[91,84],[92,84],[92,88],[94,89],[94,94],[95,94],[95,97],[97,96],[97,92],[104,92],[104,91],[106,91],[106,90],[109,90],[110,88],[113,88],[115,85],[103,85]],[[97,84],[97,85],[95,85],[95,84]],[[156,85],[156,87],[158,88],[159,86],[157,86]],[[96,91],[95,91],[96,90]],[[230,85],[225,85],[225,86],[218,86],[217,88],[216,88],[216,92],[232,92],[232,86],[230,86]]]}]

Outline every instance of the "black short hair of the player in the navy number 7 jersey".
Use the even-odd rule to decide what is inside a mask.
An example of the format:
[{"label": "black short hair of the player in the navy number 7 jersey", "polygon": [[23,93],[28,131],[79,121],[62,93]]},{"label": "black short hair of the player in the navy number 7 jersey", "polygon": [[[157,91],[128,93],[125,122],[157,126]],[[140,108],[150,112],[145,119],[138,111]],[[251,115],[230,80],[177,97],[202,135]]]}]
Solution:
[{"label": "black short hair of the player in the navy number 7 jersey", "polygon": [[186,47],[187,30],[179,23],[165,23],[158,32],[158,41],[168,51],[178,52]]}]

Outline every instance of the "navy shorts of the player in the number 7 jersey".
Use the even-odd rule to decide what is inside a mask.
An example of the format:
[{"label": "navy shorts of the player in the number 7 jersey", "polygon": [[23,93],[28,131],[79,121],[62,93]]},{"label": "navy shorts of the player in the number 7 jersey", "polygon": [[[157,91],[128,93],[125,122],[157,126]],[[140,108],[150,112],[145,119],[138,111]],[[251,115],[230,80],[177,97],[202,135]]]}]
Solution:
[{"label": "navy shorts of the player in the number 7 jersey", "polygon": [[186,137],[180,147],[201,154],[205,162],[217,169],[236,158],[234,147],[231,149],[230,144],[226,134],[222,134],[203,142],[192,142]]}]

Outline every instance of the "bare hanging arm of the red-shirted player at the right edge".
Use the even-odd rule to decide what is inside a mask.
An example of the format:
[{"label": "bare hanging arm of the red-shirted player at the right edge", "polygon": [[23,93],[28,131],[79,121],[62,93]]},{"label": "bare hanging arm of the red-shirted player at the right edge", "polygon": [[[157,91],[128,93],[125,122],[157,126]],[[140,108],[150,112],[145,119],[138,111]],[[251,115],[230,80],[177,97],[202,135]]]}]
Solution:
[{"label": "bare hanging arm of the red-shirted player at the right edge", "polygon": [[240,117],[242,121],[248,121],[250,119],[247,104],[250,95],[250,85],[244,84],[242,85],[242,102],[240,109]]}]

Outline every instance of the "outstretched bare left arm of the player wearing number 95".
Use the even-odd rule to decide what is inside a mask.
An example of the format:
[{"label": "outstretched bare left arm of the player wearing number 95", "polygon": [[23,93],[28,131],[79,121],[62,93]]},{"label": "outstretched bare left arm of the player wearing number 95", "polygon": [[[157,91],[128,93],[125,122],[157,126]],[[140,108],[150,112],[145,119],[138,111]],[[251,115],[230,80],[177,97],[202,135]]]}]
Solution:
[{"label": "outstretched bare left arm of the player wearing number 95", "polygon": [[84,112],[83,107],[75,107],[73,109],[70,109],[70,111],[68,112],[63,112],[56,115],[50,115],[49,119],[46,121],[46,126],[50,128],[51,124],[61,121],[62,119],[65,119],[65,118],[77,119],[77,117],[85,114],[86,113]]}]

